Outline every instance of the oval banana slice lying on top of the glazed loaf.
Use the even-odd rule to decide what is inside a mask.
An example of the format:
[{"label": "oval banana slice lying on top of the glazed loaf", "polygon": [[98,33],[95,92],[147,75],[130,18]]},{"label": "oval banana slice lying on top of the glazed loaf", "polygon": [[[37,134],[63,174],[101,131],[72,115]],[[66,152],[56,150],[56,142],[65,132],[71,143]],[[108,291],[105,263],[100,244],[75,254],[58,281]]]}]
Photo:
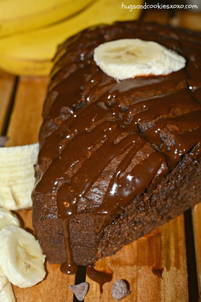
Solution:
[{"label": "oval banana slice lying on top of the glazed loaf", "polygon": [[108,76],[123,80],[138,76],[167,75],[185,66],[186,60],[159,43],[120,39],[100,44],[94,61]]}]

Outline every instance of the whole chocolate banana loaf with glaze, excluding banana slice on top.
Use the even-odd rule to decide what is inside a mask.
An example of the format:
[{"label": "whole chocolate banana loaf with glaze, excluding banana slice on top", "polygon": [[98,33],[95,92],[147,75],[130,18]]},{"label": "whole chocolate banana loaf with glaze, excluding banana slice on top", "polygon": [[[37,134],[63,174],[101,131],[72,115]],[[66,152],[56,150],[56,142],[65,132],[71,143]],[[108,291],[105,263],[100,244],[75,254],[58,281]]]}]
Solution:
[{"label": "whole chocolate banana loaf with glaze, excluding banana slice on top", "polygon": [[[166,76],[118,80],[101,43],[139,38],[184,56]],[[112,255],[199,202],[201,34],[141,21],[90,28],[58,47],[40,130],[33,227],[64,272]],[[149,54],[147,54],[149,55]]]}]

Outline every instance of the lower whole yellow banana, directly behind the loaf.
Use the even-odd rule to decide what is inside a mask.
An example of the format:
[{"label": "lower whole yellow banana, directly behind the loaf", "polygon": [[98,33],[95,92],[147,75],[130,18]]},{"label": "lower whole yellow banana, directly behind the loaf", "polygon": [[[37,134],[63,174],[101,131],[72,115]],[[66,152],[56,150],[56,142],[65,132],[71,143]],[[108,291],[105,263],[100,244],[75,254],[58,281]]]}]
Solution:
[{"label": "lower whole yellow banana, directly behind the loaf", "polygon": [[[127,3],[126,3],[127,2]],[[124,1],[124,5],[129,0]],[[141,4],[136,0],[135,4]],[[97,0],[68,20],[36,31],[0,39],[0,68],[18,75],[46,76],[56,47],[86,27],[136,19],[140,10],[122,8],[122,0]]]}]

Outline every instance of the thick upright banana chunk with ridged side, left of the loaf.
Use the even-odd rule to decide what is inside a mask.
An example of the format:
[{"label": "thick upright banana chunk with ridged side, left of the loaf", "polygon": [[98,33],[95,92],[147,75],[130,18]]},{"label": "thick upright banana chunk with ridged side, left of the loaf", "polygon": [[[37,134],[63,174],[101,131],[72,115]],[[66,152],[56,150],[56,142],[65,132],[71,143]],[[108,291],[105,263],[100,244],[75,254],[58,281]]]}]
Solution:
[{"label": "thick upright banana chunk with ridged side, left of the loaf", "polygon": [[34,168],[39,144],[0,148],[0,207],[19,210],[32,206]]}]

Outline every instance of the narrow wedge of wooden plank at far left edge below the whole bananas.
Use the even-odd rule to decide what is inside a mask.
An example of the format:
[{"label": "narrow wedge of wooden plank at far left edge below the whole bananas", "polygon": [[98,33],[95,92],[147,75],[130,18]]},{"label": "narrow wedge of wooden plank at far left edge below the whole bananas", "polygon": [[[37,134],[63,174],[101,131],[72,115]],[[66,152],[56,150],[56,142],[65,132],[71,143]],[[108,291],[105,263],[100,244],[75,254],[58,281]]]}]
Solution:
[{"label": "narrow wedge of wooden plank at far left edge below the whole bananas", "polygon": [[8,115],[14,82],[15,76],[0,70],[0,135],[2,135]]}]

